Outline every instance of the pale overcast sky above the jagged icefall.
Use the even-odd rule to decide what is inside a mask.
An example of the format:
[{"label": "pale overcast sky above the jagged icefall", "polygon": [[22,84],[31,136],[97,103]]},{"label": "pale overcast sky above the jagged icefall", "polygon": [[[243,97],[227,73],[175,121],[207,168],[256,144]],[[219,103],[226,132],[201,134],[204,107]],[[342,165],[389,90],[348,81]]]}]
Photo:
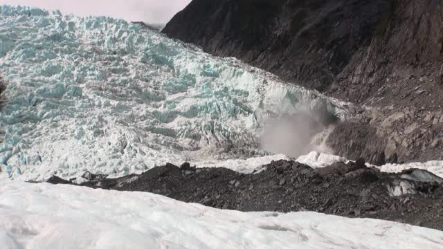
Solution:
[{"label": "pale overcast sky above the jagged icefall", "polygon": [[61,10],[64,15],[106,15],[127,21],[166,23],[191,0],[0,0],[0,4]]}]

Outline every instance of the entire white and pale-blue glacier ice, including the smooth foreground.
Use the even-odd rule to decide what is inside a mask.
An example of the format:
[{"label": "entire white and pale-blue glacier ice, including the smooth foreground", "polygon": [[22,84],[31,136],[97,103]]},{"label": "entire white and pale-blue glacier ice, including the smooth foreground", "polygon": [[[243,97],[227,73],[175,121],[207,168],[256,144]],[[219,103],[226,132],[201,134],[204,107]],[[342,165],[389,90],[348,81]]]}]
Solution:
[{"label": "entire white and pale-blue glacier ice, including the smooth foreground", "polygon": [[[299,111],[341,119],[352,113],[349,103],[237,59],[213,57],[120,19],[0,6],[0,77],[6,82],[0,101],[0,248],[443,243],[441,231],[390,221],[216,210],[150,193],[16,181],[54,174],[78,181],[85,170],[118,177],[184,161],[257,172],[272,160],[295,159],[262,149],[260,136],[269,121]],[[296,160],[311,167],[348,161],[321,152]],[[443,174],[441,161],[380,169],[410,167]]]}]

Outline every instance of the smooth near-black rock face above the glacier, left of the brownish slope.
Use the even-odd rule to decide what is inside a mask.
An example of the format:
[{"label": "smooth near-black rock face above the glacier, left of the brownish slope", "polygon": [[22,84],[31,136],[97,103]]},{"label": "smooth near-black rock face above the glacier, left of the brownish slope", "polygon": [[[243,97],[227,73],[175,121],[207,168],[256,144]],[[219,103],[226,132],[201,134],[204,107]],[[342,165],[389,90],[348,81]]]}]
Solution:
[{"label": "smooth near-black rock face above the glacier, left of the brownish slope", "polygon": [[325,91],[389,9],[390,0],[194,0],[162,32]]}]

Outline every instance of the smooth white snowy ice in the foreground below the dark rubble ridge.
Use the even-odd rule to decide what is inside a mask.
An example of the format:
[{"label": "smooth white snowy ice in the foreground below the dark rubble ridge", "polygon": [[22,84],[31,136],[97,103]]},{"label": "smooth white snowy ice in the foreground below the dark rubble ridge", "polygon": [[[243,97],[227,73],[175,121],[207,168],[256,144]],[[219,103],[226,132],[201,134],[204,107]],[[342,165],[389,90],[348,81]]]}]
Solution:
[{"label": "smooth white snowy ice in the foreground below the dark rubble ridge", "polygon": [[443,232],[314,212],[216,210],[142,192],[3,181],[0,248],[442,248]]}]

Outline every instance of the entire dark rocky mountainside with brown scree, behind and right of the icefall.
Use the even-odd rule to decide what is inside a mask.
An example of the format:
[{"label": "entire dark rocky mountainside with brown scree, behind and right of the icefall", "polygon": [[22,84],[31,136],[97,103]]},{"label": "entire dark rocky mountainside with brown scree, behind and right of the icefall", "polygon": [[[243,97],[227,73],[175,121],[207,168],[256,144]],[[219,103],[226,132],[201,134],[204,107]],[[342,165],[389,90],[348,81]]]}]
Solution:
[{"label": "entire dark rocky mountainside with brown scree, behind and right of the icefall", "polygon": [[443,158],[442,8],[419,0],[194,0],[163,33],[361,105],[329,137],[341,156],[431,160]]}]

